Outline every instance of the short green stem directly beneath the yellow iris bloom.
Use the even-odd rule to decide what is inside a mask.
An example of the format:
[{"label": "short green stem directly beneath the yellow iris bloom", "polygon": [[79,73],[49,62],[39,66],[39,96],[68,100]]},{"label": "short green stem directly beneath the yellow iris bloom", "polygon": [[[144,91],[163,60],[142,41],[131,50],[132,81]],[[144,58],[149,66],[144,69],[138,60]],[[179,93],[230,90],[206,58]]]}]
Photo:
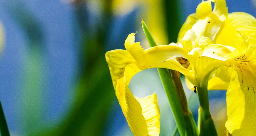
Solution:
[{"label": "short green stem directly beneath the yellow iris bloom", "polygon": [[210,113],[209,98],[208,98],[208,79],[201,81],[197,87],[200,106],[198,109],[198,130],[200,136],[217,136],[217,131]]}]

